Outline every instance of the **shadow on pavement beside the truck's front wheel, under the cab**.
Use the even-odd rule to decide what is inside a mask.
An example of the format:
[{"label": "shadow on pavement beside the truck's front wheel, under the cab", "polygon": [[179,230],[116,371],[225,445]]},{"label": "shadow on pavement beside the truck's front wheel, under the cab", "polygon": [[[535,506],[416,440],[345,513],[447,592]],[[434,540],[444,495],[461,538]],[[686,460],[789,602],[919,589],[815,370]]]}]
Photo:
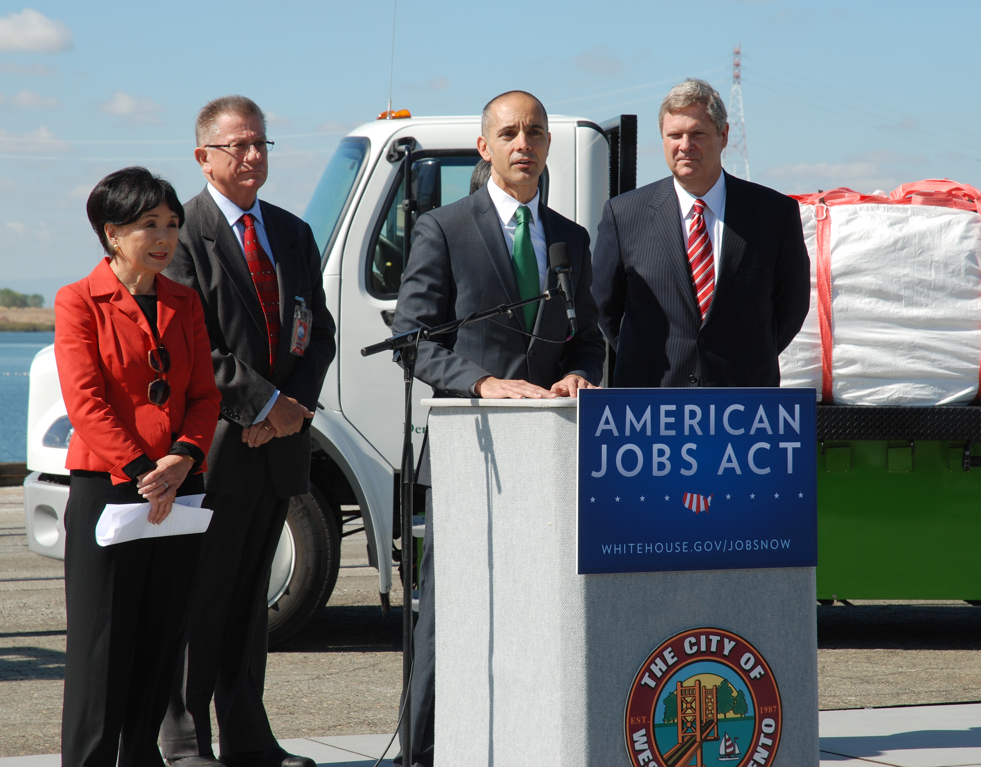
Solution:
[{"label": "shadow on pavement beside the truck's front wheel, under the cab", "polygon": [[271,652],[397,652],[402,649],[402,608],[382,615],[378,605],[328,605],[302,634]]}]

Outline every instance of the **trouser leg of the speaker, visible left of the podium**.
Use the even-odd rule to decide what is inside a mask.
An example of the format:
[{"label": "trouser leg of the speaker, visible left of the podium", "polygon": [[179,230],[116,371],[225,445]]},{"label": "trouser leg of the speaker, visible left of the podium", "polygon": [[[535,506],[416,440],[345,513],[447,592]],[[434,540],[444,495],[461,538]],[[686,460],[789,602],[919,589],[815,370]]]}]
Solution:
[{"label": "trouser leg of the speaker, visible left of the podium", "polygon": [[[404,545],[404,544],[403,544]],[[411,598],[411,595],[410,597]],[[407,606],[411,603],[406,599]],[[412,760],[409,767],[433,764],[436,722],[436,582],[433,570],[433,489],[426,488],[426,536],[419,572],[419,620],[412,635]]]}]

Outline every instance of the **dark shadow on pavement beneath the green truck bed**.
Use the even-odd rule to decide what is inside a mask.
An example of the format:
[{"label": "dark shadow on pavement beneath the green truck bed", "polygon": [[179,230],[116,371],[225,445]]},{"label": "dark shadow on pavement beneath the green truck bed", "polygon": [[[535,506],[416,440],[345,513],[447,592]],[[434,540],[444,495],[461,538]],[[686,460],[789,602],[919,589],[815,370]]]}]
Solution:
[{"label": "dark shadow on pavement beneath the green truck bed", "polygon": [[818,606],[822,649],[981,649],[981,607],[965,604]]}]

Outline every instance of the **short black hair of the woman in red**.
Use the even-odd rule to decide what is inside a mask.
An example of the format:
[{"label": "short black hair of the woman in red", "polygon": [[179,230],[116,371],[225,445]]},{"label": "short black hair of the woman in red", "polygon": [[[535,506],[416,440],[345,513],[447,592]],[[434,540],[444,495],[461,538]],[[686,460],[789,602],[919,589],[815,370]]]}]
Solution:
[{"label": "short black hair of the woman in red", "polygon": [[85,212],[103,249],[113,256],[116,251],[109,245],[106,225],[132,224],[161,202],[166,202],[167,207],[178,215],[178,225],[182,227],[183,206],[171,182],[154,176],[145,168],[132,166],[111,173],[95,184],[85,203]]}]

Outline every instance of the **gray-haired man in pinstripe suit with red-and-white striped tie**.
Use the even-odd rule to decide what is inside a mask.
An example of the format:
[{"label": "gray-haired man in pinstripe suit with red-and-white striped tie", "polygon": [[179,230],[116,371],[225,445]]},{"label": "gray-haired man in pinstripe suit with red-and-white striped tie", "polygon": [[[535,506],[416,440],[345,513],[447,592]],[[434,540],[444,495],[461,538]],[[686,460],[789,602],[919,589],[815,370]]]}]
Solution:
[{"label": "gray-haired man in pinstripe suit with red-and-white striped tie", "polygon": [[719,94],[689,78],[661,103],[671,176],[606,203],[593,257],[614,386],[778,386],[810,262],[798,204],[722,170]]}]

